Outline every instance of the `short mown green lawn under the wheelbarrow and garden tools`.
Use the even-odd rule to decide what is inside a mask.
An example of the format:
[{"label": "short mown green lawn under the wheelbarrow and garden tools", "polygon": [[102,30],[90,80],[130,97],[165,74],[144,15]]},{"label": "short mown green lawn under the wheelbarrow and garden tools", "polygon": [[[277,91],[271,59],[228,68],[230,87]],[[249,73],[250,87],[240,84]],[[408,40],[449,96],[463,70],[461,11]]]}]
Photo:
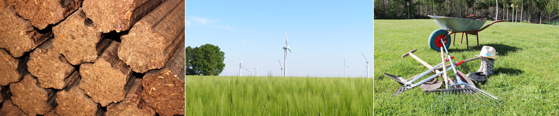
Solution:
[{"label": "short mown green lawn under the wheelbarrow and garden tools", "polygon": [[[412,57],[401,55],[418,49],[415,55],[431,65],[439,64],[440,52],[429,49],[427,43],[438,28],[433,20],[375,20],[376,115],[559,115],[559,26],[553,25],[500,22],[480,32],[480,47],[492,46],[500,54],[495,75],[476,85],[504,98],[498,107],[431,112],[439,93],[422,94],[421,88],[414,88],[391,96],[402,84],[382,73],[408,79],[427,70]],[[470,36],[470,50],[463,43],[451,45],[449,52],[456,57],[454,61],[460,61],[479,55],[475,48],[475,36]],[[479,67],[476,60],[457,69],[467,74]]]}]

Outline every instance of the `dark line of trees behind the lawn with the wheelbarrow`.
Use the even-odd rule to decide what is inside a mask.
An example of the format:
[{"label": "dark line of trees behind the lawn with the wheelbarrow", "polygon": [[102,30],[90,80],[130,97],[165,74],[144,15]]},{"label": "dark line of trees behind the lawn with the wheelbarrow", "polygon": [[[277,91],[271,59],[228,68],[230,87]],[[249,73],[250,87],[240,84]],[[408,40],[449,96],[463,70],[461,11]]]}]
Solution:
[{"label": "dark line of trees behind the lawn with the wheelbarrow", "polygon": [[496,10],[496,20],[537,22],[557,15],[559,0],[375,0],[375,19],[382,20],[429,19],[427,15],[495,20]]}]

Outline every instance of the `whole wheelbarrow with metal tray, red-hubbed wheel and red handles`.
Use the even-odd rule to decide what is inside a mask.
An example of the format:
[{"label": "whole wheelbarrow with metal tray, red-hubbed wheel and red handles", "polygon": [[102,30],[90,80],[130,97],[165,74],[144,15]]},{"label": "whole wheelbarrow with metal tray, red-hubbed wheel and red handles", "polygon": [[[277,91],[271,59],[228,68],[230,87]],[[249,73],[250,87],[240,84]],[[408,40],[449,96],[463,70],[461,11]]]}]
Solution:
[{"label": "whole wheelbarrow with metal tray, red-hubbed wheel and red handles", "polygon": [[[440,42],[440,38],[444,38],[443,42],[445,43],[446,47],[450,47],[451,43],[451,35],[454,34],[454,40],[456,40],[456,33],[462,33],[462,40],[464,38],[464,33],[466,33],[466,48],[470,49],[468,45],[468,35],[475,35],[477,39],[477,49],[480,49],[480,38],[478,37],[477,32],[485,30],[485,28],[493,25],[494,23],[504,22],[508,20],[499,20],[493,21],[489,23],[489,25],[481,28],[484,26],[485,22],[482,21],[487,18],[482,18],[479,20],[471,20],[467,18],[455,18],[455,17],[440,17],[440,16],[431,16],[431,19],[437,23],[440,29],[437,29],[431,33],[429,36],[429,47],[433,50],[440,51],[440,47],[443,46],[443,43]],[[450,33],[448,33],[450,31]],[[462,40],[460,44],[462,44]],[[454,43],[453,43],[454,44]]]}]

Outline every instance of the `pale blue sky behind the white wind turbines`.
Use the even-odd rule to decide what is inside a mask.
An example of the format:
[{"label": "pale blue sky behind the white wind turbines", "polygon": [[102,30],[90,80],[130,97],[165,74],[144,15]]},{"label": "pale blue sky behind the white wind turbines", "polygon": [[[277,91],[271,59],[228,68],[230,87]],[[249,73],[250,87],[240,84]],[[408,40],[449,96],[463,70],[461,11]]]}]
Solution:
[{"label": "pale blue sky behind the white wind turbines", "polygon": [[[186,46],[210,43],[225,52],[225,64],[256,67],[279,76],[285,32],[291,47],[288,76],[365,76],[373,61],[373,1],[188,1]],[[372,75],[373,64],[369,64]],[[252,74],[254,75],[254,69]],[[243,71],[243,76],[247,75]],[[239,74],[226,65],[221,76]]]}]

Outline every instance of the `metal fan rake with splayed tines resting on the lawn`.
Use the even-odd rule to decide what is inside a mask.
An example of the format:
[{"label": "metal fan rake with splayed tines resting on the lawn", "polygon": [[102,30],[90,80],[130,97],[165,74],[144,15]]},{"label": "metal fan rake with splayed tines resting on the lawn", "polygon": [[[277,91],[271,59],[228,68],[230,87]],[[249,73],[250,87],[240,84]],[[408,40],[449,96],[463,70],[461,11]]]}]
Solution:
[{"label": "metal fan rake with splayed tines resting on the lawn", "polygon": [[[448,49],[446,46],[444,46],[444,43],[443,43],[443,48],[444,51],[446,51],[447,57],[451,57],[448,54]],[[479,108],[480,105],[482,107],[486,107],[487,105],[489,106],[500,105],[500,101],[503,100],[503,98],[500,98],[499,96],[493,95],[479,88],[473,87],[471,84],[463,82],[458,76],[456,65],[452,63],[452,59],[449,60],[452,66],[451,69],[454,71],[454,75],[456,76],[456,81],[454,82],[454,84],[448,85],[448,89],[444,90],[443,94],[439,95],[437,100],[435,100],[435,102],[431,104],[432,111],[434,111],[435,109],[438,110],[461,109],[462,106],[464,109],[466,109],[468,107],[467,106],[468,102],[470,108],[473,107]]]}]

